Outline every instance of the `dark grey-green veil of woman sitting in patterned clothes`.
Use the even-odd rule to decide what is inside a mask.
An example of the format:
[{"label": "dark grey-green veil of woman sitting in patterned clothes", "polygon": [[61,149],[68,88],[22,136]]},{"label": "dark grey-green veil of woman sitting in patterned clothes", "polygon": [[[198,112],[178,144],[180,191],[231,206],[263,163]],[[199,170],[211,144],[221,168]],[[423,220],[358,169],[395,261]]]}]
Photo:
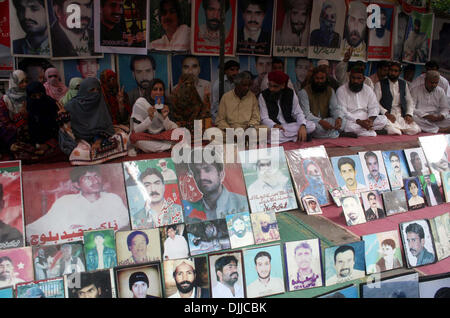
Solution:
[{"label": "dark grey-green veil of woman sitting in patterned clothes", "polygon": [[[98,92],[89,92],[92,88],[97,88]],[[67,103],[66,110],[70,113],[72,131],[76,138],[92,141],[96,136],[114,135],[111,115],[98,79],[84,79],[77,96]]]}]

